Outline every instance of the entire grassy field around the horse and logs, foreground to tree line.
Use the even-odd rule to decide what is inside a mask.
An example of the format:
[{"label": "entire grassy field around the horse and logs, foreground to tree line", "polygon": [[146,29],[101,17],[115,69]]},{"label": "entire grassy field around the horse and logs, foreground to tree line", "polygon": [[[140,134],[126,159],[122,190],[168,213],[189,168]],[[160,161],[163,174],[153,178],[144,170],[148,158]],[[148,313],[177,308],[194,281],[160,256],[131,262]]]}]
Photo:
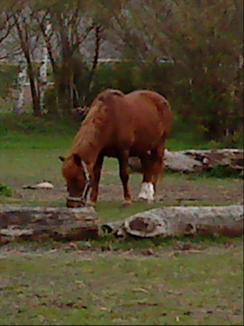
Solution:
[{"label": "entire grassy field around the horse and logs, foreground to tree line", "polygon": [[[78,124],[31,116],[1,116],[1,182],[12,196],[2,204],[64,206],[59,155],[68,153]],[[188,136],[187,136],[188,137]],[[187,138],[186,137],[186,138]],[[212,146],[213,145],[213,146]],[[172,138],[171,150],[221,147]],[[141,175],[132,174],[133,198]],[[53,190],[22,189],[48,180]],[[163,205],[243,203],[243,181],[165,173],[155,203],[122,208],[118,164],[106,159],[96,211],[99,223]],[[181,250],[190,244],[198,253]],[[1,325],[243,325],[243,238],[174,238],[76,244],[4,245]]]}]

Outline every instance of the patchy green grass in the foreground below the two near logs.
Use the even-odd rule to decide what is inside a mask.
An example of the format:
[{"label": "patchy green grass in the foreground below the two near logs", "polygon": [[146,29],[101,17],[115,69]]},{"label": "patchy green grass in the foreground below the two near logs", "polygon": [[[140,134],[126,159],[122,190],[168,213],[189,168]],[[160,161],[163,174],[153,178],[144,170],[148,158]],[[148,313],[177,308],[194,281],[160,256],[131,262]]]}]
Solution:
[{"label": "patchy green grass in the foreground below the two near logs", "polygon": [[239,244],[158,257],[13,251],[1,259],[1,325],[241,325],[242,262]]}]

